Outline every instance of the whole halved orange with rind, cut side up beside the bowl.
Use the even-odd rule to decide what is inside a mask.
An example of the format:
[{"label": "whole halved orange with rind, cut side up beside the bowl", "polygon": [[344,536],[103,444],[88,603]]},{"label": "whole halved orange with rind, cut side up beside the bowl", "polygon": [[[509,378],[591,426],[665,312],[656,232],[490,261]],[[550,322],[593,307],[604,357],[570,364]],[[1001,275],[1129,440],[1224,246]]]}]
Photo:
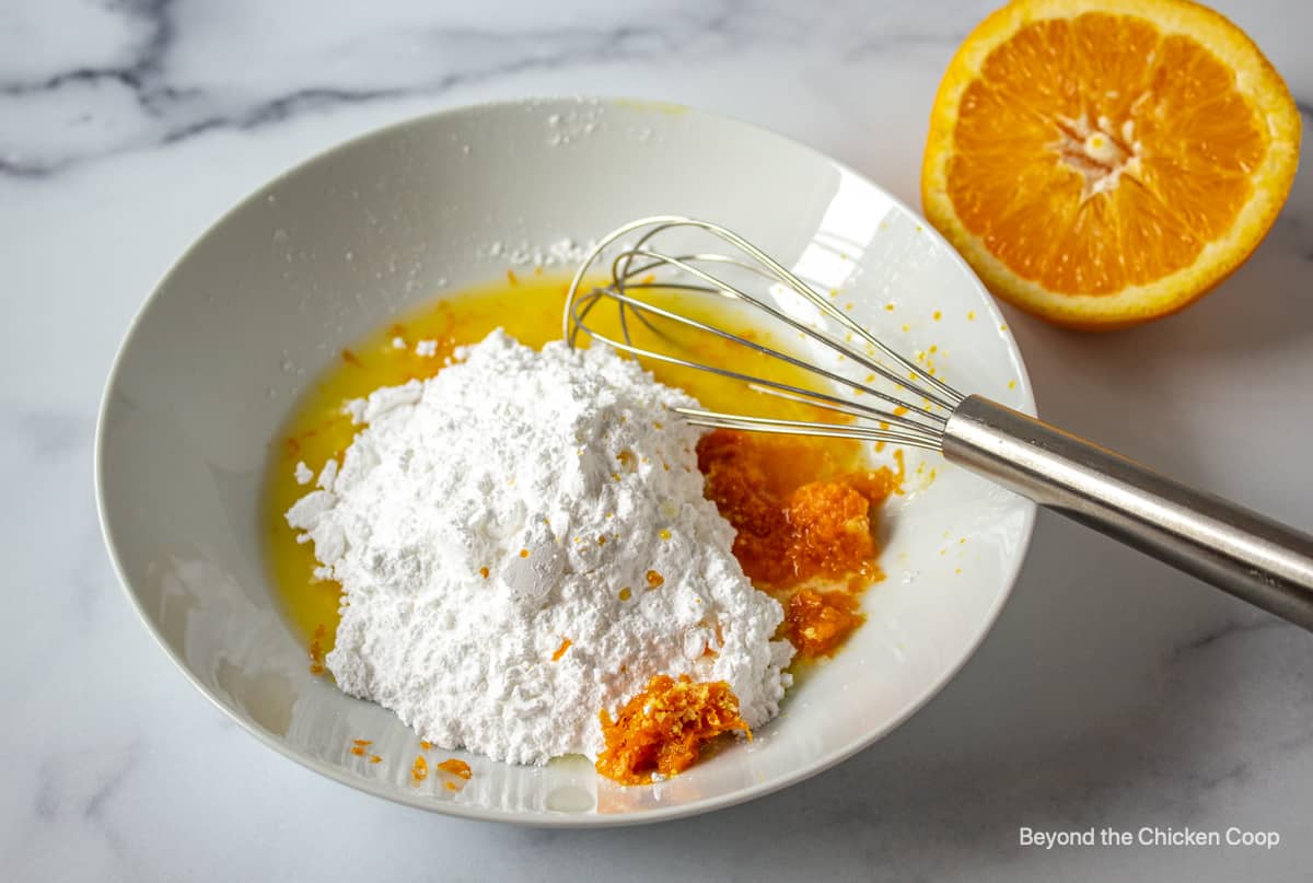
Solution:
[{"label": "whole halved orange with rind, cut side up beside the bowl", "polygon": [[1015,0],[935,97],[926,217],[999,297],[1060,325],[1174,313],[1249,258],[1300,117],[1236,25],[1187,0]]}]

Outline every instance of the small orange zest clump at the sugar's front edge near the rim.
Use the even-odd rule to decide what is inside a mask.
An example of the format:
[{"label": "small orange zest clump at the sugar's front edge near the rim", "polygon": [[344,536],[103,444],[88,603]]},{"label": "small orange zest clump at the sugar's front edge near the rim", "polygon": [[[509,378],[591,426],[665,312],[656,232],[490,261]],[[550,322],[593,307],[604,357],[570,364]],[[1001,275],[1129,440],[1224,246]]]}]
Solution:
[{"label": "small orange zest clump at the sugar's front edge near the rim", "polygon": [[702,745],[721,733],[741,729],[752,737],[738,713],[738,698],[723,681],[693,683],[658,674],[625,703],[614,720],[601,711],[605,750],[597,771],[621,784],[647,784],[653,774],[675,775],[697,761]]}]

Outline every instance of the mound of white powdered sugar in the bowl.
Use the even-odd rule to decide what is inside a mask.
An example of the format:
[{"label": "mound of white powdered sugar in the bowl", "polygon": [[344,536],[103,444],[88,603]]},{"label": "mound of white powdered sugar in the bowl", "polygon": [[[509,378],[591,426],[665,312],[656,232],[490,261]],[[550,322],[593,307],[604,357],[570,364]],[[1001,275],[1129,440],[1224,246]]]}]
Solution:
[{"label": "mound of white powdered sugar in the bowl", "polygon": [[597,346],[494,331],[457,359],[352,402],[369,426],[288,512],[345,591],[337,685],[523,763],[596,757],[597,712],[658,673],[773,717],[793,649],[702,497],[699,430],[670,410],[695,402]]}]

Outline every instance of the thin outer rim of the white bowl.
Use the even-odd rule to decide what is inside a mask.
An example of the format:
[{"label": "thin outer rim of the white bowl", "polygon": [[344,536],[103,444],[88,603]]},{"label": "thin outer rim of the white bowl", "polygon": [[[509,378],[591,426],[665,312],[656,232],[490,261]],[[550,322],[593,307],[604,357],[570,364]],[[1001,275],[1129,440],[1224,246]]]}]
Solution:
[{"label": "thin outer rim of the white bowl", "polygon": [[140,306],[133,315],[133,319],[129,323],[127,330],[123,332],[123,336],[119,340],[118,348],[116,350],[114,357],[110,363],[109,373],[101,389],[100,406],[97,409],[97,415],[96,415],[96,434],[92,448],[93,482],[96,490],[96,515],[100,523],[101,539],[105,543],[110,564],[114,569],[116,576],[118,577],[118,583],[122,587],[123,594],[127,595],[127,600],[131,604],[133,610],[137,611],[137,615],[140,618],[142,624],[146,627],[146,631],[150,632],[151,637],[155,639],[156,645],[173,662],[173,665],[177,666],[177,669],[183,673],[183,677],[185,677],[192,683],[192,686],[201,692],[201,695],[209,699],[214,707],[217,707],[221,712],[223,712],[230,720],[236,723],[247,733],[255,736],[260,742],[273,749],[274,752],[282,754],[288,759],[297,762],[299,766],[309,769],[314,773],[318,773],[319,775],[323,775],[334,782],[349,786],[352,790],[361,791],[364,794],[369,794],[377,798],[382,798],[391,803],[398,803],[406,807],[414,807],[416,809],[425,809],[428,812],[439,815],[453,816],[460,819],[471,819],[477,821],[502,821],[530,828],[566,829],[566,828],[620,828],[629,825],[651,824],[656,821],[672,821],[676,819],[687,819],[691,816],[702,815],[705,812],[725,809],[733,805],[738,805],[741,803],[747,803],[750,800],[755,800],[756,798],[762,798],[768,794],[781,791],[792,784],[797,784],[798,782],[818,775],[836,766],[838,763],[842,763],[843,761],[857,754],[859,752],[869,748],[874,742],[880,741],[886,735],[889,735],[890,732],[901,727],[903,723],[906,723],[918,711],[920,711],[927,703],[930,703],[931,699],[937,696],[943,691],[943,689],[948,686],[948,683],[953,678],[957,677],[957,674],[966,665],[966,662],[973,656],[976,656],[976,652],[979,649],[985,637],[990,633],[990,631],[993,631],[994,624],[998,622],[998,618],[1002,614],[1003,607],[1007,604],[1008,598],[1011,598],[1012,589],[1016,586],[1016,579],[1020,574],[1023,564],[1025,562],[1027,553],[1029,552],[1029,545],[1035,531],[1037,506],[1032,501],[1025,499],[1024,497],[1020,498],[1023,503],[1023,511],[1022,511],[1023,518],[1020,530],[1018,532],[1016,552],[1012,556],[1012,560],[1007,562],[1007,566],[1003,568],[1003,577],[1004,577],[1003,591],[999,593],[997,600],[994,602],[994,606],[987,611],[987,615],[979,622],[979,627],[976,635],[972,636],[970,641],[968,641],[966,650],[961,654],[961,658],[958,658],[952,666],[949,666],[931,685],[928,690],[923,691],[923,694],[919,695],[913,702],[906,703],[898,711],[898,713],[892,716],[884,725],[871,731],[863,738],[856,740],[850,745],[844,745],[843,748],[830,752],[829,754],[818,759],[814,759],[809,763],[800,766],[798,769],[790,771],[786,775],[771,779],[768,782],[756,783],[746,788],[739,788],[737,791],[731,791],[722,795],[700,798],[697,800],[692,800],[689,803],[681,803],[678,805],[662,807],[656,809],[639,809],[634,812],[613,813],[613,815],[565,813],[565,812],[551,812],[551,811],[520,812],[520,811],[490,809],[483,807],[463,805],[460,803],[425,800],[421,798],[421,795],[418,794],[408,795],[404,792],[398,792],[395,788],[385,787],[382,783],[348,777],[345,773],[340,771],[337,767],[327,762],[302,754],[301,752],[290,746],[285,740],[277,738],[274,735],[265,732],[263,728],[256,725],[255,721],[247,720],[246,717],[240,716],[234,708],[228,707],[223,702],[223,699],[215,695],[209,687],[206,687],[206,685],[204,685],[192,673],[190,668],[186,665],[186,661],[173,652],[173,649],[164,640],[164,636],[156,628],[154,619],[146,611],[144,606],[142,604],[139,597],[134,591],[127,578],[127,573],[123,568],[123,562],[118,553],[118,547],[114,541],[114,531],[108,518],[108,501],[105,498],[105,484],[102,481],[104,477],[102,473],[105,469],[104,444],[106,434],[106,419],[110,409],[110,398],[113,396],[113,390],[117,386],[118,376],[122,371],[125,356],[130,350],[138,331],[140,330],[140,325],[147,311],[152,307],[155,301],[159,297],[161,297],[164,289],[168,286],[168,283],[173,279],[175,275],[180,272],[180,268],[192,258],[192,255],[197,250],[200,250],[205,244],[205,242],[217,229],[227,223],[230,218],[244,210],[248,205],[264,200],[268,196],[268,193],[273,192],[286,179],[301,173],[302,171],[310,168],[311,166],[330,162],[336,155],[355,150],[370,141],[387,139],[399,133],[406,131],[407,129],[425,125],[428,122],[440,118],[512,110],[512,109],[521,109],[527,106],[537,106],[544,104],[565,104],[565,105],[596,104],[601,106],[620,106],[620,108],[659,106],[668,110],[678,110],[679,113],[692,113],[718,122],[731,124],[735,127],[751,133],[754,137],[765,137],[777,139],[779,142],[783,142],[789,147],[801,151],[802,154],[810,156],[811,159],[819,163],[825,163],[842,173],[852,175],[860,181],[868,184],[874,191],[877,191],[884,198],[889,200],[892,205],[897,206],[898,210],[906,213],[909,217],[918,218],[919,221],[922,221],[924,226],[924,233],[934,237],[935,239],[939,240],[941,246],[944,246],[944,254],[947,259],[953,261],[957,265],[957,268],[962,271],[962,273],[965,273],[965,276],[969,280],[972,280],[979,289],[981,294],[983,296],[982,300],[985,304],[985,309],[989,311],[990,318],[994,321],[994,326],[999,328],[999,334],[1003,335],[1003,340],[1007,344],[1007,348],[1014,361],[1016,363],[1018,392],[1024,398],[1024,406],[1020,410],[1031,415],[1036,413],[1035,393],[1031,386],[1029,372],[1025,368],[1025,361],[1022,356],[1022,351],[1016,343],[1016,339],[1012,336],[1011,331],[1006,327],[1004,317],[999,310],[998,302],[989,294],[983,283],[981,283],[979,277],[974,273],[974,271],[972,271],[966,260],[939,234],[937,230],[935,230],[928,222],[924,221],[923,215],[919,212],[914,210],[911,206],[905,204],[897,196],[889,193],[885,188],[880,187],[861,172],[853,170],[852,167],[847,166],[840,160],[834,159],[832,156],[829,156],[827,154],[817,150],[815,147],[805,145],[794,138],[790,138],[789,135],[781,134],[775,129],[771,129],[768,126],[762,126],[755,122],[748,122],[735,116],[720,112],[702,110],[699,108],[676,104],[671,101],[654,101],[649,99],[637,99],[626,96],[609,96],[609,95],[525,96],[520,99],[465,104],[453,108],[445,108],[431,113],[423,113],[414,117],[408,117],[406,120],[400,120],[398,122],[389,124],[386,126],[372,129],[369,131],[351,137],[345,141],[337,142],[324,150],[311,154],[310,156],[284,170],[282,172],[280,172],[278,175],[276,175],[274,177],[272,177],[270,180],[265,181],[255,191],[248,193],[246,197],[239,200],[230,209],[223,212],[223,214],[221,214],[215,221],[207,225],[205,230],[200,235],[197,235],[196,239],[193,239],[192,243],[183,251],[183,254],[179,255],[169,264],[169,267],[159,276],[155,285],[151,288],[151,292],[146,296],[146,298],[142,301]]}]

